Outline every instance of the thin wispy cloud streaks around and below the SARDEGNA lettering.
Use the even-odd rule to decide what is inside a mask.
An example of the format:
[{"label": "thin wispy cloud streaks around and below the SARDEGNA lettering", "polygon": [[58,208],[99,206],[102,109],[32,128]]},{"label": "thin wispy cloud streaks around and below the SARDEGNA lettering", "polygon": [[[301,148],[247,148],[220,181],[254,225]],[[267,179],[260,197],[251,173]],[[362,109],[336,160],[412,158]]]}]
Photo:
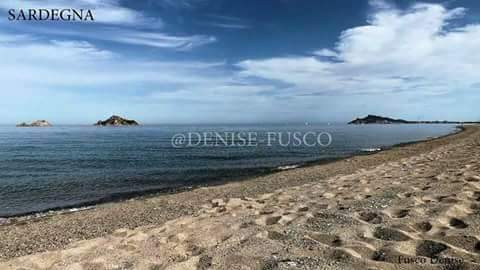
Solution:
[{"label": "thin wispy cloud streaks around and below the SARDEGNA lettering", "polygon": [[[150,17],[143,12],[124,7],[118,0],[4,0],[0,10],[26,8],[76,8],[94,10],[95,22],[77,23],[76,28],[45,27],[44,25],[25,26],[30,32],[51,34],[77,39],[89,38],[129,45],[140,45],[163,49],[191,50],[216,41],[207,35],[172,35],[165,32],[164,23],[159,17]],[[4,19],[4,18],[3,18]],[[74,23],[66,23],[74,24]],[[95,28],[81,28],[91,26]],[[9,27],[5,23],[5,28]],[[65,25],[64,25],[65,26]]]}]

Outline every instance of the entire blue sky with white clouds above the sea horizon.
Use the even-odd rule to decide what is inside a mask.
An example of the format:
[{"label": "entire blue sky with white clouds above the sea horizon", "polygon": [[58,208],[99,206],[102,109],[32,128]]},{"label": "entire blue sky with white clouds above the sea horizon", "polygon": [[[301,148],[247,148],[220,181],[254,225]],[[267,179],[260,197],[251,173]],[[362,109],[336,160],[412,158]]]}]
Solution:
[{"label": "entire blue sky with white clouds above the sea horizon", "polygon": [[0,123],[475,121],[479,49],[477,0],[2,0]]}]

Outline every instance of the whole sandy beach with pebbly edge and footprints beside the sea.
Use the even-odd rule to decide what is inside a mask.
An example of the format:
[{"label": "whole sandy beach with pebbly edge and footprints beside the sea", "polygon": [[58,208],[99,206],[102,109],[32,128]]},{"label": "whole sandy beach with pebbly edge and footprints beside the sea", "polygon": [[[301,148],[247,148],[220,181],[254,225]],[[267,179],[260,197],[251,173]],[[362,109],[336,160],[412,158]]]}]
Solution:
[{"label": "whole sandy beach with pebbly edge and footprints beside the sea", "polygon": [[[480,128],[0,221],[0,269],[480,269]],[[81,209],[78,209],[81,210]]]}]

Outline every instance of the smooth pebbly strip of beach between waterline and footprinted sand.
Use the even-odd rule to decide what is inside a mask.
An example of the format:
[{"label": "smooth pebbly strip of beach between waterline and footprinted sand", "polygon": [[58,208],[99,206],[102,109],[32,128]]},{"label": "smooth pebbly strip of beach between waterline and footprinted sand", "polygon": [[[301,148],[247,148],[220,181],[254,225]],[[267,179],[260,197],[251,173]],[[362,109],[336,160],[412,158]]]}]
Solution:
[{"label": "smooth pebbly strip of beach between waterline and footprinted sand", "polygon": [[431,140],[402,144],[373,154],[285,170],[244,181],[200,187],[175,194],[137,197],[68,214],[32,219],[13,218],[13,223],[0,226],[0,261],[65,248],[76,241],[103,237],[122,228],[159,226],[169,220],[191,216],[202,209],[202,205],[218,198],[255,197],[281,188],[322,182],[333,176],[375,168],[466,140],[478,132],[478,126],[466,126],[461,132]]}]

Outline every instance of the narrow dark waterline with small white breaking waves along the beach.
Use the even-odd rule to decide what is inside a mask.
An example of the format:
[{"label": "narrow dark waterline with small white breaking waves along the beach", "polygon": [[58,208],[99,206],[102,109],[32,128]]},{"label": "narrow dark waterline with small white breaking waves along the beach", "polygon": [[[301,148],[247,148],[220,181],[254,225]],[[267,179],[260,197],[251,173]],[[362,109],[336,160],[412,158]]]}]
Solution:
[{"label": "narrow dark waterline with small white breaking waves along the beach", "polygon": [[455,126],[455,129],[447,134],[438,136],[438,137],[433,137],[433,138],[425,138],[417,141],[406,141],[402,143],[397,143],[394,145],[386,146],[379,148],[379,150],[374,150],[374,151],[362,151],[358,150],[352,154],[341,156],[341,157],[333,157],[333,158],[321,158],[321,159],[316,159],[316,160],[311,160],[311,161],[305,161],[305,162],[300,162],[296,164],[284,164],[284,165],[279,165],[276,167],[261,167],[261,168],[255,168],[255,172],[251,173],[249,175],[243,175],[243,176],[231,176],[231,177],[222,177],[222,179],[216,179],[212,180],[209,183],[202,183],[202,184],[197,184],[197,185],[187,185],[187,186],[181,186],[181,187],[165,187],[165,188],[158,188],[158,189],[151,189],[151,190],[139,190],[139,191],[130,191],[130,192],[122,192],[122,193],[114,193],[110,194],[108,196],[93,200],[93,201],[88,201],[88,202],[81,202],[81,203],[75,203],[75,204],[70,204],[66,206],[59,206],[59,207],[53,207],[41,211],[30,211],[30,212],[23,212],[19,214],[13,214],[13,215],[6,215],[6,216],[0,216],[0,227],[5,226],[5,225],[10,225],[10,220],[11,219],[16,219],[16,218],[21,218],[22,220],[25,219],[35,219],[35,218],[43,218],[43,217],[48,217],[48,216],[55,216],[55,215],[63,215],[63,214],[69,214],[69,213],[74,213],[77,211],[85,211],[85,210],[90,210],[94,209],[97,206],[100,206],[102,204],[109,204],[109,203],[121,203],[125,202],[128,200],[132,199],[148,199],[151,197],[157,197],[157,196],[162,196],[162,195],[171,195],[171,194],[178,194],[182,192],[188,192],[191,190],[195,190],[198,188],[207,188],[207,187],[214,187],[214,186],[220,186],[220,185],[226,185],[229,183],[235,183],[235,182],[243,182],[243,181],[249,181],[253,178],[257,177],[263,177],[283,171],[288,171],[288,170],[295,170],[299,168],[308,168],[308,167],[313,167],[313,166],[320,166],[320,165],[325,165],[325,164],[330,164],[333,162],[339,162],[345,159],[353,158],[356,156],[366,156],[366,155],[374,155],[376,153],[388,151],[390,149],[394,148],[399,148],[399,147],[404,147],[408,145],[414,145],[418,143],[423,143],[423,142],[429,142],[429,141],[434,141],[437,139],[442,139],[442,138],[447,138],[449,136],[454,136],[456,134],[459,134],[463,131],[465,131],[465,126],[463,125],[457,125]]}]

